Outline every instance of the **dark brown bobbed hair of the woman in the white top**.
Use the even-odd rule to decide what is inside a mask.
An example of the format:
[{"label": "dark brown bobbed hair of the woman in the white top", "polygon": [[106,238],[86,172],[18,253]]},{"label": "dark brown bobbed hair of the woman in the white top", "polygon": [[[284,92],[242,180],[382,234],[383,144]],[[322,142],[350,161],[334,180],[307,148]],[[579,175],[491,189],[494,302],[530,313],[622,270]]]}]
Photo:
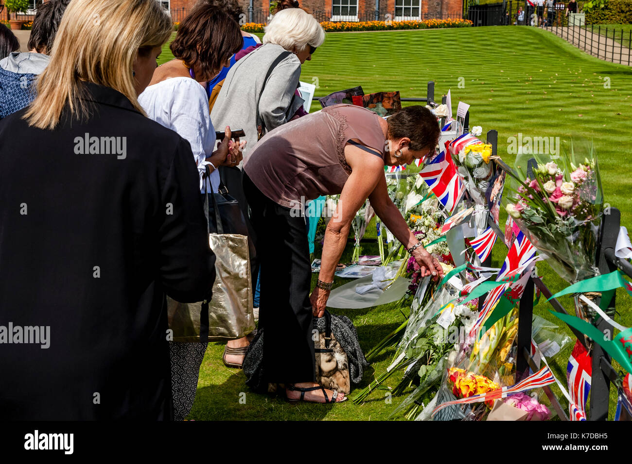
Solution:
[{"label": "dark brown bobbed hair of the woman in the white top", "polygon": [[236,21],[217,6],[201,2],[182,21],[169,48],[174,57],[197,67],[210,80],[241,47]]}]

